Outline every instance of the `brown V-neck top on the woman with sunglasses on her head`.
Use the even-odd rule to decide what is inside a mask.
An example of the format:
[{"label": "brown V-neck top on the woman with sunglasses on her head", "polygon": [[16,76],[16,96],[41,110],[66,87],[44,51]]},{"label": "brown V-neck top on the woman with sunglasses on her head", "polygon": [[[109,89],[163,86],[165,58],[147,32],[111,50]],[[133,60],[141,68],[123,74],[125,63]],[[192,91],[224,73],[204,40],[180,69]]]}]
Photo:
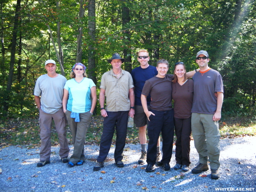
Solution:
[{"label": "brown V-neck top on the woman with sunglasses on her head", "polygon": [[174,117],[189,118],[193,104],[194,82],[188,79],[183,85],[172,83],[172,99],[174,100]]}]

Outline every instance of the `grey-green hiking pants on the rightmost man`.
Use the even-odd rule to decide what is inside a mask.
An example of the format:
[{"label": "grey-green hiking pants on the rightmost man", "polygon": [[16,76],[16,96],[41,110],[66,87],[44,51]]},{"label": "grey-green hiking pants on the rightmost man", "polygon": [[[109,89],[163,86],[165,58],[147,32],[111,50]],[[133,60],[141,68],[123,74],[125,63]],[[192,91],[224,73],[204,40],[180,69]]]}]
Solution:
[{"label": "grey-green hiking pants on the rightmost man", "polygon": [[192,113],[191,128],[199,163],[208,164],[211,169],[220,167],[219,122],[212,121],[213,114]]}]

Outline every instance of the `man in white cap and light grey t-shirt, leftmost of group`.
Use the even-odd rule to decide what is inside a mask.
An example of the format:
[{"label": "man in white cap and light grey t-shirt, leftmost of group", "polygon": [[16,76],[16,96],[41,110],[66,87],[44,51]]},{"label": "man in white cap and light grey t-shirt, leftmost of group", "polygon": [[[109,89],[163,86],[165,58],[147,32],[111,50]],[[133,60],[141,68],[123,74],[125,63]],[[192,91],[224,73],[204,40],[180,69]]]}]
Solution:
[{"label": "man in white cap and light grey t-shirt, leftmost of group", "polygon": [[[66,117],[62,109],[63,88],[67,79],[56,73],[54,60],[45,61],[47,74],[40,76],[35,86],[35,102],[39,110],[40,123],[40,162],[38,167],[50,163],[52,119],[60,141],[60,157],[63,163],[68,163],[68,141],[66,138]],[[41,96],[41,99],[40,99]]]}]

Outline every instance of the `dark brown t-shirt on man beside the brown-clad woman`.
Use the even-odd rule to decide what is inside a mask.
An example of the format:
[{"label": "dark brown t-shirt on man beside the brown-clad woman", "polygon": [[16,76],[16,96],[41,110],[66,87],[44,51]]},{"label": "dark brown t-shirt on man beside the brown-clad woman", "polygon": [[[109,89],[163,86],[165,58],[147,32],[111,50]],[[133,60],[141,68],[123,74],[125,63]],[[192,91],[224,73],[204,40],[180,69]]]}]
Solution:
[{"label": "dark brown t-shirt on man beside the brown-clad woman", "polygon": [[154,76],[145,82],[141,94],[148,96],[150,93],[152,98],[150,109],[156,111],[172,109],[172,78],[173,75],[166,74],[164,78]]}]

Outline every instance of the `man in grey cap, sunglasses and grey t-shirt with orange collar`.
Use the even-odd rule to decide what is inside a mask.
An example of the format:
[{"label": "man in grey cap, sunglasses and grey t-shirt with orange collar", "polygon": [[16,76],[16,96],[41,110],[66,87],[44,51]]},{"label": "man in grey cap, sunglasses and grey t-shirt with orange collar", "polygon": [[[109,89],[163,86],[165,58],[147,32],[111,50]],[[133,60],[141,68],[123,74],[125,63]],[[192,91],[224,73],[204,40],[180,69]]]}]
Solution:
[{"label": "man in grey cap, sunglasses and grey t-shirt with orange collar", "polygon": [[[194,98],[191,109],[191,128],[199,162],[192,173],[207,171],[208,161],[211,178],[219,179],[220,132],[218,121],[221,118],[223,83],[220,73],[209,68],[209,55],[206,51],[196,53],[196,63],[200,71],[193,76]],[[215,96],[217,93],[217,98]]]}]

